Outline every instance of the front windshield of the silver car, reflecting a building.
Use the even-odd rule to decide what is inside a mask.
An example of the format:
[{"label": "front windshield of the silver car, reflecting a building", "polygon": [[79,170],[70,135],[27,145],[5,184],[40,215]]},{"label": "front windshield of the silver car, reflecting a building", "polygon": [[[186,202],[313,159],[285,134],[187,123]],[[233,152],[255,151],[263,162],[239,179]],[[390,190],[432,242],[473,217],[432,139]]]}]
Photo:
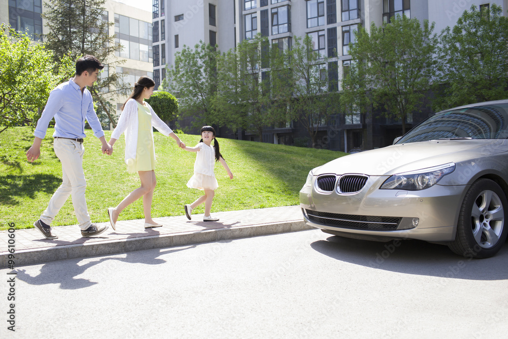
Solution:
[{"label": "front windshield of the silver car, reflecting a building", "polygon": [[508,138],[508,103],[451,109],[434,114],[397,144],[438,139]]}]

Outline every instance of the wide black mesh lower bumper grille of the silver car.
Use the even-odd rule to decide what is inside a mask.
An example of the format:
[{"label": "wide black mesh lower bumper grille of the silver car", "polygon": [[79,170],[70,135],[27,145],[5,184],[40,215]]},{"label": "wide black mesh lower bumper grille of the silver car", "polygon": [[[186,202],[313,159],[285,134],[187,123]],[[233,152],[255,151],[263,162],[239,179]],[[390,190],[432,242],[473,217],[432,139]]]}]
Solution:
[{"label": "wide black mesh lower bumper grille of the silver car", "polygon": [[371,231],[394,231],[402,218],[376,215],[353,215],[318,212],[305,209],[308,219],[316,224]]}]

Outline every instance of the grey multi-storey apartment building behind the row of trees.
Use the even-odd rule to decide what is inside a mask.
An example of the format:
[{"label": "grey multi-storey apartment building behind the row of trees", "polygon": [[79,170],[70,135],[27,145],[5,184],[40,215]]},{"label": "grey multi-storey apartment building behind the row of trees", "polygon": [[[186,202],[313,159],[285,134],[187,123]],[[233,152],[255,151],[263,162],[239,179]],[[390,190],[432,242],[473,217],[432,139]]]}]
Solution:
[{"label": "grey multi-storey apartment building behind the row of trees", "polygon": [[[227,51],[261,33],[272,43],[291,48],[294,37],[310,35],[315,49],[329,57],[328,78],[340,90],[343,70],[351,63],[348,46],[354,43],[360,24],[381,25],[394,15],[405,14],[435,22],[435,32],[439,33],[453,26],[473,4],[496,4],[504,13],[508,9],[508,0],[152,0],[153,76],[160,84],[174,54],[184,45],[192,47],[199,41],[216,43],[221,51]],[[409,128],[432,113],[428,103],[423,102],[422,108],[421,114],[406,121]],[[401,131],[401,121],[376,114],[372,119],[345,115],[338,108],[320,127],[318,139],[324,148],[351,151],[386,146]],[[233,137],[223,130],[220,136]],[[262,141],[297,144],[306,136],[304,128],[292,122],[283,128],[267,127]],[[257,140],[249,131],[239,137]]]}]

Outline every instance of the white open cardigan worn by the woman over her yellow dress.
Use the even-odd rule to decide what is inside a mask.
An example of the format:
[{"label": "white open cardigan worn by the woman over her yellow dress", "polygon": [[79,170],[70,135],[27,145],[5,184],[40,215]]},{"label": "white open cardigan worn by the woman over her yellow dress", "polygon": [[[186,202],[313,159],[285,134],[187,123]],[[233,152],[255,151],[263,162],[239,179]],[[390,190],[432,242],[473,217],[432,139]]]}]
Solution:
[{"label": "white open cardigan worn by the woman over her yellow dress", "polygon": [[[152,114],[152,127],[155,127],[157,131],[165,136],[169,136],[173,131],[155,114],[152,107],[147,102],[145,103]],[[115,130],[111,133],[111,138],[118,140],[123,132],[125,132],[125,164],[128,164],[130,159],[136,160],[136,148],[138,145],[138,103],[134,99],[129,99],[125,103],[118,119],[118,125],[116,125]],[[150,130],[150,132],[153,142],[153,130]]]}]

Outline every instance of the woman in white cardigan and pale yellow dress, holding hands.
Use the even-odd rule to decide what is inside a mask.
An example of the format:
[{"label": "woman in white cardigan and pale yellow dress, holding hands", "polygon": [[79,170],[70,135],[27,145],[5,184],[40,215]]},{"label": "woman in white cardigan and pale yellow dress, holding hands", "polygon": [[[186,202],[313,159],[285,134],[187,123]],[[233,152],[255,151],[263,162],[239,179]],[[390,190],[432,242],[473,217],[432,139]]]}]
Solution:
[{"label": "woman in white cardigan and pale yellow dress, holding hands", "polygon": [[123,104],[123,110],[118,119],[118,125],[111,134],[109,144],[118,140],[125,132],[125,163],[127,171],[138,172],[141,187],[132,191],[116,207],[108,208],[109,222],[116,230],[116,221],[121,211],[134,201],[143,197],[143,211],[145,214],[145,228],[160,227],[152,220],[151,208],[153,189],[155,188],[155,151],[153,146],[152,126],[165,136],[175,139],[180,147],[185,144],[173,131],[155,114],[153,109],[144,102],[153,94],[155,82],[147,76],[139,78],[134,84],[131,96]]}]

